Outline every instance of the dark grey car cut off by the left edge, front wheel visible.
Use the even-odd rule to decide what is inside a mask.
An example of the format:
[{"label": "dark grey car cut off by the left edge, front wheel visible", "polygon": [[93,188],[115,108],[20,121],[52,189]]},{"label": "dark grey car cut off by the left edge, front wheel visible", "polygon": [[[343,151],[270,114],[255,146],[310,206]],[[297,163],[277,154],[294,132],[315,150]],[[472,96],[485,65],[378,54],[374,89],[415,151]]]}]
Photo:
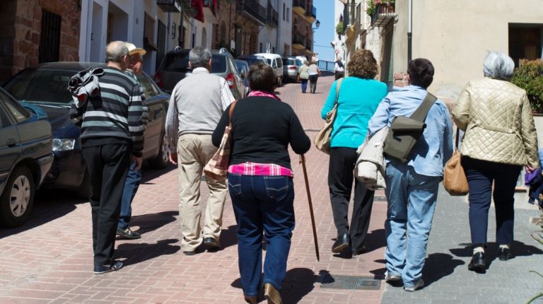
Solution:
[{"label": "dark grey car cut off by the left edge, front wheel visible", "polygon": [[51,124],[35,105],[0,88],[0,224],[28,221],[34,192],[53,163]]}]

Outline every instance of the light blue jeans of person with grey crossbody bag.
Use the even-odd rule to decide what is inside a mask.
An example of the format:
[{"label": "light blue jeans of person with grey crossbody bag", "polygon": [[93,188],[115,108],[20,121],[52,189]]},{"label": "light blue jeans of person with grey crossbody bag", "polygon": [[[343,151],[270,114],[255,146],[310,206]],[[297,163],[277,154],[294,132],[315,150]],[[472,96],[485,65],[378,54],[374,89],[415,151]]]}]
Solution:
[{"label": "light blue jeans of person with grey crossbody bag", "polygon": [[391,275],[402,275],[405,287],[414,286],[422,277],[440,180],[419,175],[407,164],[387,165],[386,268]]}]

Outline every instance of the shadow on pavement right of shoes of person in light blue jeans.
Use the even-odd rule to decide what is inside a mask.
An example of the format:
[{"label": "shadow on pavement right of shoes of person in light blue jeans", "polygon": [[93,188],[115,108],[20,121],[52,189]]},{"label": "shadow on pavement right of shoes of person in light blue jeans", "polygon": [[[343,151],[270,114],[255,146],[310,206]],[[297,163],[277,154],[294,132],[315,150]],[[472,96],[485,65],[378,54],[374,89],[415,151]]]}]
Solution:
[{"label": "shadow on pavement right of shoes of person in light blue jeans", "polygon": [[454,259],[447,253],[432,253],[426,258],[422,279],[425,286],[430,286],[433,282],[452,274],[457,266],[465,264],[461,259]]}]

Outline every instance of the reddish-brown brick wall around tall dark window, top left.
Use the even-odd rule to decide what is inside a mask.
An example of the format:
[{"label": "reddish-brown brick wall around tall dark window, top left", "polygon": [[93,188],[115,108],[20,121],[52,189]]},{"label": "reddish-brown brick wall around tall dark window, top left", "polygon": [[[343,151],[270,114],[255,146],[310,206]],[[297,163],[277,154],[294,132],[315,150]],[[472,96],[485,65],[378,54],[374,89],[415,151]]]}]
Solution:
[{"label": "reddish-brown brick wall around tall dark window, top left", "polygon": [[[61,16],[59,61],[79,60],[79,28],[81,12],[77,0],[3,0],[0,10],[13,11],[14,16],[2,18],[0,27],[13,28],[11,42],[6,47],[6,55],[0,49],[0,81],[6,81],[13,74],[27,66],[38,64],[40,33],[42,28],[42,9]],[[11,18],[11,19],[10,19]],[[9,33],[9,31],[7,31]],[[0,36],[0,39],[4,37]]]}]

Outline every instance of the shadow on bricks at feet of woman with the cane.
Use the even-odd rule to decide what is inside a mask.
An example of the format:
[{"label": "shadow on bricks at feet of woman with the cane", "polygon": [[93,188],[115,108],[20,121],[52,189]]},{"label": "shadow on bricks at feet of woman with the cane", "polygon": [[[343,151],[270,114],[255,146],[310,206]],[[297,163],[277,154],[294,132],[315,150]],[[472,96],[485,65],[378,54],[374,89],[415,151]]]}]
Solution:
[{"label": "shadow on bricks at feet of woman with the cane", "polygon": [[[326,274],[328,274],[328,271],[321,270],[317,276],[313,270],[308,268],[293,268],[286,271],[286,276],[281,288],[283,303],[300,302],[304,296],[313,290],[313,285],[317,279],[325,277]],[[235,288],[242,288],[240,279],[235,279],[230,285]],[[264,291],[260,291],[258,299],[259,303],[264,300]]]}]

